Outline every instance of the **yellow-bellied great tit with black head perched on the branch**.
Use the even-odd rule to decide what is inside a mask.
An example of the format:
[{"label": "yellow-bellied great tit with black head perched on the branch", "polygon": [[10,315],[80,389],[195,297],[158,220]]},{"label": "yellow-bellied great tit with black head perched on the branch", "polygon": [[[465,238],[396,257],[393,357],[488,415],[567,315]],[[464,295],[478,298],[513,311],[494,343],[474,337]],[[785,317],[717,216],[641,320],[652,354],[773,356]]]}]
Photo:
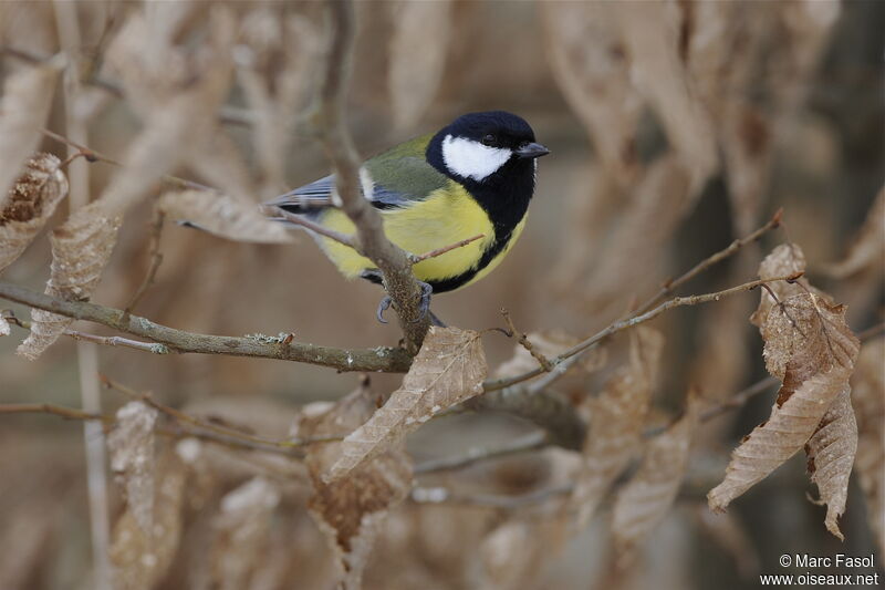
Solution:
[{"label": "yellow-bellied great tit with black head perched on the branch", "polygon": [[[482,235],[413,266],[421,286],[421,318],[429,312],[431,294],[482,279],[508,255],[525,226],[538,158],[549,153],[525,120],[487,111],[458,116],[436,133],[400,143],[362,164],[363,196],[381,214],[387,238],[405,251],[419,255]],[[281,216],[278,209],[352,235],[355,226],[340,204],[335,177],[330,175],[280,195],[263,210],[282,222],[291,216]],[[382,283],[381,271],[368,258],[311,234],[345,277]],[[386,323],[384,311],[389,307],[385,297],[376,312],[378,321]],[[436,315],[430,318],[441,325]]]}]

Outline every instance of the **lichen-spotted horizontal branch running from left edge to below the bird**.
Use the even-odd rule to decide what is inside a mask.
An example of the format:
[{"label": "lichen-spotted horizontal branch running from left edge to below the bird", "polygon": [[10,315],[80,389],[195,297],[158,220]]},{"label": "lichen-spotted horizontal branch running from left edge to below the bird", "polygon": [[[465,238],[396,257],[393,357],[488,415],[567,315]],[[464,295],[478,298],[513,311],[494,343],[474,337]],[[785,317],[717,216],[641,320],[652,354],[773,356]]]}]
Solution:
[{"label": "lichen-spotted horizontal branch running from left edge to below the bird", "polygon": [[403,373],[412,364],[412,356],[403,349],[335,349],[294,342],[289,337],[198,334],[168,328],[138,315],[127,315],[123,310],[85,301],[64,301],[8,282],[0,282],[0,298],[148,339],[152,341],[150,352],[155,354],[227,354],[319,364],[339,371],[387,373]]}]

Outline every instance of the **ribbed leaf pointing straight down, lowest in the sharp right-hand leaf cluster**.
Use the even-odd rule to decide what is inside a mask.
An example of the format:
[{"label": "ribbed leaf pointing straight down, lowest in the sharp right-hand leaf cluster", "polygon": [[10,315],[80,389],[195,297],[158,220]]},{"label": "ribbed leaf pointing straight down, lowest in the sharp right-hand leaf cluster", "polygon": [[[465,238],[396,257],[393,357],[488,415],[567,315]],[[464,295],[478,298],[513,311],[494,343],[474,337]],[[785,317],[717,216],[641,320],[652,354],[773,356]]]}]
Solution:
[{"label": "ribbed leaf pointing straight down, lowest in the sharp right-hand leaf cluster", "polygon": [[826,528],[844,540],[839,517],[845,511],[848,478],[857,453],[857,422],[851,406],[851,389],[833,400],[818,429],[805,443],[811,482],[818,485],[821,503],[826,505]]}]

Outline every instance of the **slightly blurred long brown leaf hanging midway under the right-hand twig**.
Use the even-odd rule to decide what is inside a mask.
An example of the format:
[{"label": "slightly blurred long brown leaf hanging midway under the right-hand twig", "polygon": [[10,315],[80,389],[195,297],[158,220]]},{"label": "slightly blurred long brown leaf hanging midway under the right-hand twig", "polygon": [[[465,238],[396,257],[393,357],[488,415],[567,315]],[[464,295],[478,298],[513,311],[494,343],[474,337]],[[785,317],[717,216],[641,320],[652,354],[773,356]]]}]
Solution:
[{"label": "slightly blurred long brown leaf hanging midway under the right-hand twig", "polygon": [[597,398],[589,398],[590,428],[584,463],[571,504],[583,528],[596,511],[612,482],[642,445],[642,428],[652,398],[664,337],[647,327],[631,332],[629,364],[620,369]]}]

